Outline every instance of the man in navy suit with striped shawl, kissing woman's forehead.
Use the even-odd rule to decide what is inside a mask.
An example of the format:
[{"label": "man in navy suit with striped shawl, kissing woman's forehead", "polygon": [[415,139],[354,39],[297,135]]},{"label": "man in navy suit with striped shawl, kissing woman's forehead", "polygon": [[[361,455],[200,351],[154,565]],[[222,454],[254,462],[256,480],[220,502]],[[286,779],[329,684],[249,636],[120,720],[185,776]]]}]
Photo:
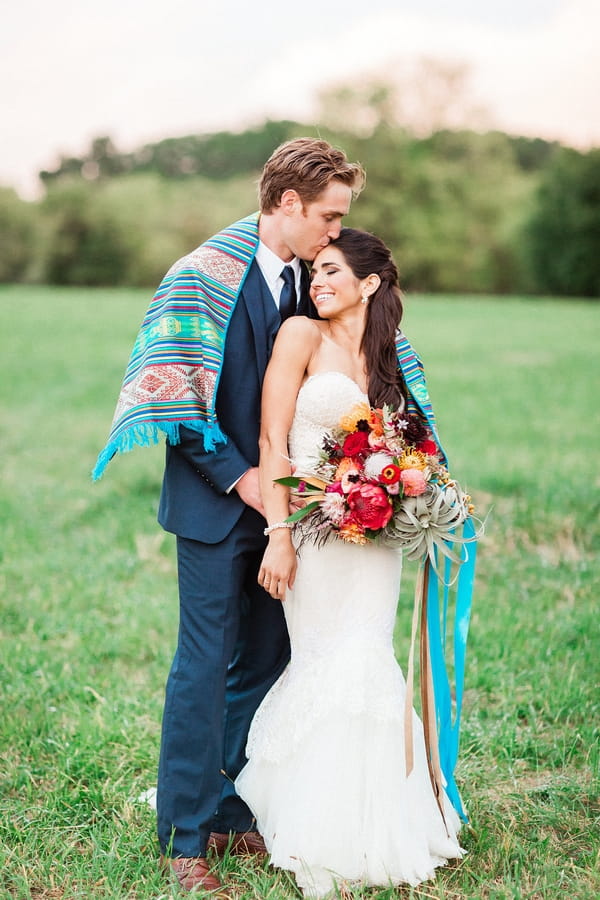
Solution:
[{"label": "man in navy suit with striped shawl, kissing woman's forehead", "polygon": [[167,435],[159,522],[177,536],[178,645],[158,771],[163,864],[185,890],[227,896],[207,860],[264,852],[233,781],[257,706],[289,659],[281,603],[257,583],[266,545],[260,394],[288,315],[316,313],[302,260],[335,239],[364,172],[321,140],[283,144],[260,214],[179,260],[142,323],[94,477],[117,452]]}]

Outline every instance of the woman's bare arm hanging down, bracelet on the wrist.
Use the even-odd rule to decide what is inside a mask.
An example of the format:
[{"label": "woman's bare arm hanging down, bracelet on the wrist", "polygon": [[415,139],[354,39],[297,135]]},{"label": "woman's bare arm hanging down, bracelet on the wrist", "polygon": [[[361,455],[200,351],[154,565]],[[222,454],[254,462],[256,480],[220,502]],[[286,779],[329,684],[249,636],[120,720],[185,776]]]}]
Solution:
[{"label": "woman's bare arm hanging down, bracelet on the wrist", "polygon": [[[294,418],[296,398],[320,342],[315,322],[301,316],[288,319],[280,328],[262,391],[259,479],[265,518],[269,527],[284,521],[289,513],[289,488],[275,484],[291,472],[288,433]],[[296,553],[289,528],[275,528],[260,567],[258,581],[272,597],[285,599],[293,587]]]}]

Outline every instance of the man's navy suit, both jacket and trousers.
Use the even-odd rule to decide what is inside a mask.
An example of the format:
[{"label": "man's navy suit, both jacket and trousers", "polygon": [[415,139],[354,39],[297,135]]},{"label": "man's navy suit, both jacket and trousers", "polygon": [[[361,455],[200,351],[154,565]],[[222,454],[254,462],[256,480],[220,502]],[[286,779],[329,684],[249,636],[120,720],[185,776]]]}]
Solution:
[{"label": "man's navy suit, both jacket and trousers", "polygon": [[[298,312],[315,315],[306,272]],[[178,646],[169,673],[158,774],[158,836],[171,856],[205,856],[211,831],[246,831],[233,789],[257,706],[289,660],[281,602],[257,583],[264,518],[231,485],[258,465],[260,395],[280,325],[254,261],[225,342],[216,410],[227,443],[206,452],[181,429],[167,444],[159,522],[177,535]],[[223,771],[225,774],[221,774]]]}]

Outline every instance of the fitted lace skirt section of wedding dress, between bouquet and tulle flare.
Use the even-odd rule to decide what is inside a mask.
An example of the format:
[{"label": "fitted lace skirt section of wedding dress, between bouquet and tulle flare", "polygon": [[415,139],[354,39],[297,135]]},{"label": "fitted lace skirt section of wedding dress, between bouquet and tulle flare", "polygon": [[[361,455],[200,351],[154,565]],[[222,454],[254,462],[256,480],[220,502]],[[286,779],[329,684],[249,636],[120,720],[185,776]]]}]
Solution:
[{"label": "fitted lace skirt section of wedding dress, between bouquet and tulle flare", "polygon": [[368,714],[398,727],[404,713],[405,681],[392,644],[400,554],[332,541],[326,549],[305,545],[300,565],[284,603],[292,662],[248,736],[248,756],[273,763],[301,750],[332,713]]}]

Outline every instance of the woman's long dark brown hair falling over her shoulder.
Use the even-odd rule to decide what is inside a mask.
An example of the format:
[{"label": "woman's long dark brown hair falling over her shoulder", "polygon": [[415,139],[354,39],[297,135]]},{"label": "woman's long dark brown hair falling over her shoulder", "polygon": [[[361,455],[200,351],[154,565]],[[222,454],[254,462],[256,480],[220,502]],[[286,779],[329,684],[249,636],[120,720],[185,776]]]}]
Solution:
[{"label": "woman's long dark brown hair falling over her shoulder", "polygon": [[402,294],[398,269],[390,250],[374,234],[356,228],[342,228],[331,241],[342,253],[356,278],[379,275],[381,283],[369,297],[365,332],[360,349],[365,354],[372,406],[389,403],[404,406],[406,385],[398,369],[396,332],[402,320]]}]

